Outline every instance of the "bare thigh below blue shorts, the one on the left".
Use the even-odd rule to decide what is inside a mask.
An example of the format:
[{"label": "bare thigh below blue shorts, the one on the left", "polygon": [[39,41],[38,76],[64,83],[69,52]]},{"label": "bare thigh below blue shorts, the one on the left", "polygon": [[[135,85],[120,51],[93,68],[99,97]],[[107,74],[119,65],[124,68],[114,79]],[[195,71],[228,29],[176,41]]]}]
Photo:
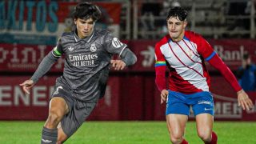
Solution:
[{"label": "bare thigh below blue shorts, the one on the left", "polygon": [[166,115],[167,127],[171,137],[182,138],[186,128],[188,116],[184,114]]}]

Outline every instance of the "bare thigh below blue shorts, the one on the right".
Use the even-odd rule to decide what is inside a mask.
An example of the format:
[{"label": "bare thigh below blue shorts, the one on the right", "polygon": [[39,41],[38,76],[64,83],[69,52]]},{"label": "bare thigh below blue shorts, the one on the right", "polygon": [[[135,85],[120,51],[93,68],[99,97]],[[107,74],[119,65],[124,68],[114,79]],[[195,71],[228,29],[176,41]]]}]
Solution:
[{"label": "bare thigh below blue shorts, the one on the right", "polygon": [[198,114],[195,117],[197,131],[200,137],[210,137],[213,130],[214,116],[211,114]]}]

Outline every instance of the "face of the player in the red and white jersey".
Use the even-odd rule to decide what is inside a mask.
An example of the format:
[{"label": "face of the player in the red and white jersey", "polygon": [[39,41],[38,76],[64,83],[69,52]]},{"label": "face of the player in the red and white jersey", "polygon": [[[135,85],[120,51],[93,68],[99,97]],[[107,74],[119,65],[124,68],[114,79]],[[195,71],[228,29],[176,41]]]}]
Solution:
[{"label": "face of the player in the red and white jersey", "polygon": [[178,18],[175,17],[170,17],[169,19],[167,19],[167,27],[170,38],[172,38],[174,42],[182,40],[185,33],[186,24],[186,21],[180,21]]}]

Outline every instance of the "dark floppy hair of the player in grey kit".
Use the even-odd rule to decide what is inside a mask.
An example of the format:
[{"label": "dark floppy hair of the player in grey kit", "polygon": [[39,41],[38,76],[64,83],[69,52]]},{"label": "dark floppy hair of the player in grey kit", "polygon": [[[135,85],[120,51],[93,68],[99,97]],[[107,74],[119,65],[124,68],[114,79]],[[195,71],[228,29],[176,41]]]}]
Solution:
[{"label": "dark floppy hair of the player in grey kit", "polygon": [[74,7],[73,18],[88,19],[93,18],[97,21],[101,18],[102,12],[99,10],[98,6],[91,4],[90,2],[82,2]]}]

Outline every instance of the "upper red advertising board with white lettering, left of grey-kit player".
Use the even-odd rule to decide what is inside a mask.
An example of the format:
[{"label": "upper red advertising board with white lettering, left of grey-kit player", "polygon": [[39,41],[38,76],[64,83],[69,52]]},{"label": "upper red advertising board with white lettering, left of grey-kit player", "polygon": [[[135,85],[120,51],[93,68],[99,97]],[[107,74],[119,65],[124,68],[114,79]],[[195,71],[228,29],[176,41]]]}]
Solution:
[{"label": "upper red advertising board with white lettering, left of grey-kit player", "polygon": [[[34,72],[53,46],[0,44],[0,71]],[[59,58],[51,71],[61,72],[64,59]]]}]

